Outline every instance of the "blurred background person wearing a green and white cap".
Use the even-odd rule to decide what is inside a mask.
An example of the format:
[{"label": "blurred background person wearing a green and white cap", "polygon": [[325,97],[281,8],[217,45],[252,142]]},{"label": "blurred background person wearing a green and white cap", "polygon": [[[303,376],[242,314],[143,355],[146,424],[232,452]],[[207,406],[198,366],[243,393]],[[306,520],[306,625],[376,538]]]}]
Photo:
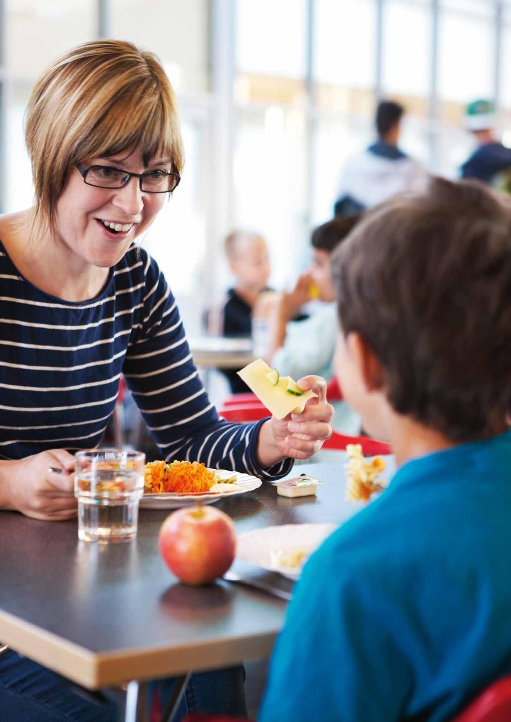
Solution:
[{"label": "blurred background person wearing a green and white cap", "polygon": [[474,100],[465,113],[465,127],[476,138],[477,148],[461,166],[462,178],[477,178],[500,191],[511,193],[511,148],[494,133],[495,110],[489,100]]}]

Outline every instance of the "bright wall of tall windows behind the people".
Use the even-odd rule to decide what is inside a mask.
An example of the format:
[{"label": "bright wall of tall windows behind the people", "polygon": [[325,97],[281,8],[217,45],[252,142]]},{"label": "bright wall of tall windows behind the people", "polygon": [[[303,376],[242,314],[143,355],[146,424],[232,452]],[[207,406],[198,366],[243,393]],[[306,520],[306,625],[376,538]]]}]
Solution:
[{"label": "bright wall of tall windows behind the people", "polygon": [[303,267],[346,158],[374,139],[377,97],[405,105],[400,143],[435,173],[458,175],[474,144],[465,105],[497,88],[511,144],[511,1],[144,0],[142,13],[141,5],[0,3],[1,206],[32,199],[22,121],[44,66],[100,33],[154,51],[177,92],[186,163],[143,243],[193,333],[226,283],[221,242],[232,227],[266,236],[273,284]]}]

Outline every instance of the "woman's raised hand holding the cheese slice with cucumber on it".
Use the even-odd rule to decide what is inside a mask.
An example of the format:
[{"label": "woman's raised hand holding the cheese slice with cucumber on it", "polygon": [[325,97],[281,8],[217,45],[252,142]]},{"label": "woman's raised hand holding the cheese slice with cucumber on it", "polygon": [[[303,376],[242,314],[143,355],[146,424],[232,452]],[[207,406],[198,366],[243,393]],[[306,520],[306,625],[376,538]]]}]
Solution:
[{"label": "woman's raised hand holding the cheese slice with cucumber on it", "polygon": [[334,409],[327,403],[327,382],[321,376],[304,376],[298,382],[303,391],[314,391],[316,399],[307,401],[304,412],[272,417],[259,432],[257,458],[266,469],[283,458],[310,458],[332,435]]}]

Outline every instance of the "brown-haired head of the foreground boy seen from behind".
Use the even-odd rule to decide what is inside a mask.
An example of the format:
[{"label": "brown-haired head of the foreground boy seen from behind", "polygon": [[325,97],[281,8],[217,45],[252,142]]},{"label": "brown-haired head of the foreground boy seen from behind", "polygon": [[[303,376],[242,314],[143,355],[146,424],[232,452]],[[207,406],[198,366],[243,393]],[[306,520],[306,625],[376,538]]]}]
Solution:
[{"label": "brown-haired head of the foreground boy seen from behind", "polygon": [[434,178],[367,213],[332,256],[336,371],[364,427],[389,413],[453,443],[511,411],[511,211],[482,184]]}]

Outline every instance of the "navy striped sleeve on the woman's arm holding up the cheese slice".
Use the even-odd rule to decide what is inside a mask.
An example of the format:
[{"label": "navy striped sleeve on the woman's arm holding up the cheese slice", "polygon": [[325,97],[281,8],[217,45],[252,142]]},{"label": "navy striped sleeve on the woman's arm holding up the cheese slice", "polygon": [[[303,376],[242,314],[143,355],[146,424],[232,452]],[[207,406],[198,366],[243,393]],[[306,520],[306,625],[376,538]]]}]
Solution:
[{"label": "navy striped sleeve on the woman's arm holding up the cheese slice", "polygon": [[287,474],[291,459],[271,469],[257,464],[262,422],[231,424],[218,417],[192,360],[176,300],[149,256],[144,275],[145,292],[123,372],[163,455],[263,479]]}]

